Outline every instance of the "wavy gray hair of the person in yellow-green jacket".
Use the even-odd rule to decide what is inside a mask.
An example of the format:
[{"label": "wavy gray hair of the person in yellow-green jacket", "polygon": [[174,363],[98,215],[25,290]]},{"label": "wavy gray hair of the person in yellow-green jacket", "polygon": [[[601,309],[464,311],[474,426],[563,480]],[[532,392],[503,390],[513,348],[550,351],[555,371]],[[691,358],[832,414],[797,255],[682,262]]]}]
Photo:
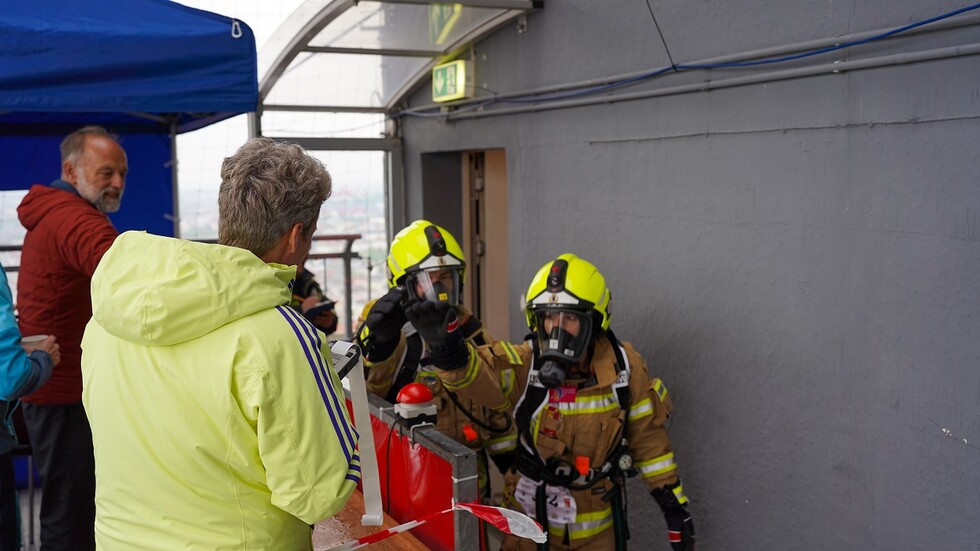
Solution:
[{"label": "wavy gray hair of the person in yellow-green jacket", "polygon": [[330,174],[295,144],[254,138],[221,164],[218,242],[262,256],[294,224],[312,231]]}]

